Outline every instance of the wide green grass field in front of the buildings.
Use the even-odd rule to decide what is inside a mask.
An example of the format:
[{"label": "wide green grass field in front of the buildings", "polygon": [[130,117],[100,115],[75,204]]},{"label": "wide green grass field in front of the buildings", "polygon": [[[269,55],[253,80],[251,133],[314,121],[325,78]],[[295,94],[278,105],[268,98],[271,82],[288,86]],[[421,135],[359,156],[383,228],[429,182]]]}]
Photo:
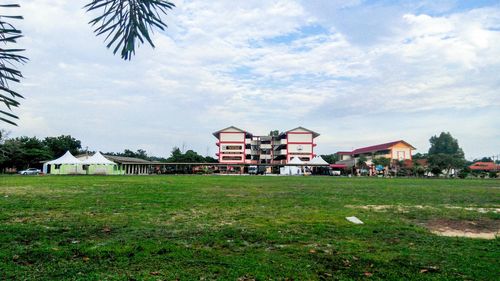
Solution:
[{"label": "wide green grass field in front of the buildings", "polygon": [[500,239],[426,227],[498,208],[498,180],[4,176],[0,279],[498,280]]}]

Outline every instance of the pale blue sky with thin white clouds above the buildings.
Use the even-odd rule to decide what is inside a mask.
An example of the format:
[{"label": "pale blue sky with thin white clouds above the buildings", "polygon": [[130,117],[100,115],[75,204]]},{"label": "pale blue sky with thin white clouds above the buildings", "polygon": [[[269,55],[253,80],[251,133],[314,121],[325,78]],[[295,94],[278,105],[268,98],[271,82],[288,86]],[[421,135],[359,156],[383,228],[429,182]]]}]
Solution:
[{"label": "pale blue sky with thin white clouds above the buildings", "polygon": [[498,0],[175,0],[131,61],[93,34],[86,2],[22,1],[12,137],[165,157],[215,156],[231,125],[303,126],[318,154],[399,139],[425,153],[447,131],[468,159],[500,154]]}]

